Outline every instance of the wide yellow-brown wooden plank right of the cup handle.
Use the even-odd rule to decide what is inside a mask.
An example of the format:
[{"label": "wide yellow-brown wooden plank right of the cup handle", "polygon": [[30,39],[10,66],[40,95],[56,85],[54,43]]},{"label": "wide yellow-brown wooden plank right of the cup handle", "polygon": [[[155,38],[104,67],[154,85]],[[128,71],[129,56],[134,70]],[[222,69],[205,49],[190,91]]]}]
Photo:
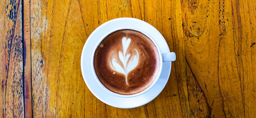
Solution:
[{"label": "wide yellow-brown wooden plank right of the cup handle", "polygon": [[199,104],[190,108],[190,114],[201,116],[201,109],[216,118],[255,116],[255,2],[184,0],[181,4],[187,76],[197,81],[195,91],[206,101],[201,104],[197,94],[190,94],[189,106]]}]

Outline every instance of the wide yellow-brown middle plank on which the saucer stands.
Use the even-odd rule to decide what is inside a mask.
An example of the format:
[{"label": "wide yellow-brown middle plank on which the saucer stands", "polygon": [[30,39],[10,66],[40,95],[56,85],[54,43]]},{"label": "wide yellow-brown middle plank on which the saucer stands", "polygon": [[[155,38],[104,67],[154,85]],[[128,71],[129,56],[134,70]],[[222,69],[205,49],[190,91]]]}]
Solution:
[{"label": "wide yellow-brown middle plank on which the saucer stands", "polygon": [[[65,3],[45,0],[31,1],[34,116],[151,117],[161,114],[166,116],[168,114],[182,115],[179,110],[180,103],[177,103],[179,97],[176,84],[173,86],[173,83],[169,83],[169,88],[165,89],[165,93],[160,94],[145,106],[135,109],[117,109],[105,105],[94,97],[81,76],[81,49],[87,37],[97,26],[117,17],[136,17],[157,26],[159,24],[155,22],[156,19],[160,20],[162,17],[157,16],[157,10],[152,9],[153,7],[157,7],[156,2],[147,3],[143,0],[122,2],[79,0]],[[161,7],[159,6],[158,9]],[[166,11],[170,11],[170,7],[166,7]],[[165,17],[165,20],[169,21],[169,16]],[[165,98],[165,96],[173,94],[177,96]],[[174,109],[175,112],[170,109]]]}]

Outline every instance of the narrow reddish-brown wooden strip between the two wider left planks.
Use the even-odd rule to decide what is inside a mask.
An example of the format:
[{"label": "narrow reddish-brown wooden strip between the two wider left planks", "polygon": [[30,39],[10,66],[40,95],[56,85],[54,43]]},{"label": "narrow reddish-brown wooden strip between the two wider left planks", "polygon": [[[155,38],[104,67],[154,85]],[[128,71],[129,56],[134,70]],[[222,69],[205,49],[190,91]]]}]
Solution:
[{"label": "narrow reddish-brown wooden strip between the two wider left planks", "polygon": [[23,0],[23,48],[25,118],[32,118],[30,0]]}]

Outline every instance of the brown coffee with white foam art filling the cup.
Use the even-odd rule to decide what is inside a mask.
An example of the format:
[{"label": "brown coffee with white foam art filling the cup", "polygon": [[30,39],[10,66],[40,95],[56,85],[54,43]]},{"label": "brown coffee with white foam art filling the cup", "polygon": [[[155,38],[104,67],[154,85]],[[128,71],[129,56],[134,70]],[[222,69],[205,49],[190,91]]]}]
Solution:
[{"label": "brown coffee with white foam art filling the cup", "polygon": [[111,33],[97,47],[94,70],[112,92],[132,95],[147,89],[159,74],[157,47],[141,32],[123,29]]}]

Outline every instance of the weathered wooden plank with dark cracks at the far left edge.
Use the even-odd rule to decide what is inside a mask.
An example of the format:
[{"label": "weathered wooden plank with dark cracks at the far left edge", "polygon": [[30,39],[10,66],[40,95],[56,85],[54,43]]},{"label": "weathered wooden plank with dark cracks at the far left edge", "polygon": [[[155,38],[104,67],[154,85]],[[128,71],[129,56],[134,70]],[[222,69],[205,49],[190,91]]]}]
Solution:
[{"label": "weathered wooden plank with dark cracks at the far left edge", "polygon": [[1,118],[24,116],[21,8],[21,0],[0,1]]}]

